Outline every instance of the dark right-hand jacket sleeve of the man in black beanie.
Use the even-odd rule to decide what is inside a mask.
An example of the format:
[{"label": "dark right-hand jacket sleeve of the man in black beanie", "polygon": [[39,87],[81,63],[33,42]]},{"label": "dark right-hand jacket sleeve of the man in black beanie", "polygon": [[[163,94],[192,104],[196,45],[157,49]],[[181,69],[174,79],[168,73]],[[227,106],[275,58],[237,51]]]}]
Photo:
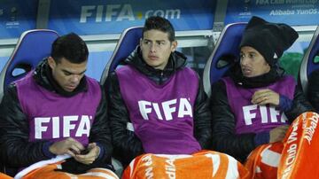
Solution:
[{"label": "dark right-hand jacket sleeve of the man in black beanie", "polygon": [[307,101],[306,96],[299,84],[296,85],[293,94],[292,107],[290,110],[284,112],[290,122],[294,121],[301,113],[314,111],[314,108]]}]

